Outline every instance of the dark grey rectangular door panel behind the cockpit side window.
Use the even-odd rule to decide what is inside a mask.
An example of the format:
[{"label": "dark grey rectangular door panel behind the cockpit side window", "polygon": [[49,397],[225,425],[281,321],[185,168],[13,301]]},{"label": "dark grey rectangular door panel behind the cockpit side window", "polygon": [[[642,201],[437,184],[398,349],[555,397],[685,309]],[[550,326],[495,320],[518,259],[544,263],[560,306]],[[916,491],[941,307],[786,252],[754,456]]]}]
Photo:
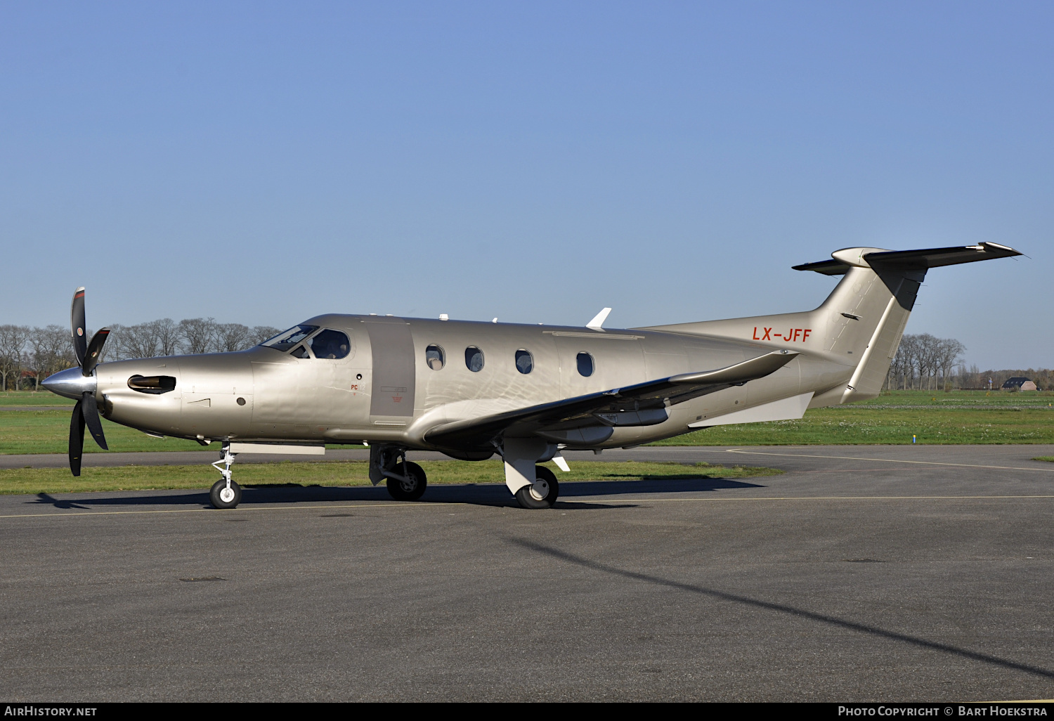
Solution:
[{"label": "dark grey rectangular door panel behind the cockpit side window", "polygon": [[413,336],[402,318],[370,318],[365,324],[373,352],[373,387],[370,390],[370,418],[413,416]]}]

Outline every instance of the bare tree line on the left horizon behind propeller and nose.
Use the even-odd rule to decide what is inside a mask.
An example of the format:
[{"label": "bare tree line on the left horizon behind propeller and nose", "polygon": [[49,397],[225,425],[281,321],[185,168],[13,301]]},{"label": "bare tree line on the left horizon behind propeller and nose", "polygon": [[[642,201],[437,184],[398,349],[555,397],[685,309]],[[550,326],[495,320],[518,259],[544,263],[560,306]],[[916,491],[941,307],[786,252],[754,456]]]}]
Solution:
[{"label": "bare tree line on the left horizon behind propeller and nose", "polygon": [[[159,355],[222,353],[252,348],[276,335],[270,326],[216,323],[214,318],[160,318],[135,326],[110,326],[101,360]],[[89,331],[87,337],[92,337]],[[70,329],[62,326],[0,326],[0,389],[37,390],[52,373],[77,365]]]}]

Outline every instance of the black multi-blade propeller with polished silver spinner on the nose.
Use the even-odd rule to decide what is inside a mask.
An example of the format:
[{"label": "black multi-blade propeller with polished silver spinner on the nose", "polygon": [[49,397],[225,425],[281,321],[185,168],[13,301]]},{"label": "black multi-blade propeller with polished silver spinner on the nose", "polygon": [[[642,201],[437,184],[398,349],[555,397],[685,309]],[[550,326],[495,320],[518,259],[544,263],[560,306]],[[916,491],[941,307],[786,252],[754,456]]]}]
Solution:
[{"label": "black multi-blade propeller with polished silver spinner on the nose", "polygon": [[95,367],[99,364],[99,355],[110,335],[109,328],[100,329],[92,340],[87,340],[84,324],[84,289],[78,288],[73,295],[73,308],[70,311],[70,329],[73,332],[73,349],[77,354],[80,368],[69,368],[46,378],[41,385],[47,390],[76,398],[77,405],[70,418],[70,470],[74,475],[80,475],[80,460],[84,452],[84,428],[102,450],[106,447],[106,437],[102,433],[102,421],[99,420],[99,406],[95,401],[96,378]]}]

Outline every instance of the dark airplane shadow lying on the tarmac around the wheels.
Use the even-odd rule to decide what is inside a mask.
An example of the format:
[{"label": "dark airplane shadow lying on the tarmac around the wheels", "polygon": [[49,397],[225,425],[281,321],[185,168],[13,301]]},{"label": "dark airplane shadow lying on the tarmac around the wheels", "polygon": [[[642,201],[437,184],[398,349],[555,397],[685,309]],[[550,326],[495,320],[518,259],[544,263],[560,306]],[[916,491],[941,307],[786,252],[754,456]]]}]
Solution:
[{"label": "dark airplane shadow lying on the tarmac around the wheels", "polygon": [[[247,485],[241,487],[241,507],[256,504],[280,503],[327,503],[354,501],[384,501],[391,503],[384,486],[300,486]],[[722,489],[764,488],[764,486],[730,481],[728,479],[646,479],[644,481],[579,481],[560,485],[560,500],[557,508],[602,509],[626,508],[637,504],[587,503],[568,499],[590,496],[619,496],[631,493],[698,493]],[[77,499],[57,499],[48,493],[38,493],[27,503],[48,505],[54,508],[91,510],[113,506],[204,506],[211,507],[209,493],[201,490],[172,490],[163,493],[143,495],[97,494]],[[425,491],[418,503],[468,503],[480,506],[508,506],[519,508],[505,484],[451,484],[433,485]]]}]

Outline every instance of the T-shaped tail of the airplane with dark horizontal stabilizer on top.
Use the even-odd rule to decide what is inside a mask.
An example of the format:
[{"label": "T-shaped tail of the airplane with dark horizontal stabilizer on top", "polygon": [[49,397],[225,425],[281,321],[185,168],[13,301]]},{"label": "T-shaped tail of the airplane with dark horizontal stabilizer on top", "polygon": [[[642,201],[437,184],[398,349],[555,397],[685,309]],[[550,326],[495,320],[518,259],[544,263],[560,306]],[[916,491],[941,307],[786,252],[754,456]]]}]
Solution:
[{"label": "T-shaped tail of the airplane with dark horizontal stabilizer on top", "polygon": [[647,330],[750,340],[800,350],[803,359],[807,355],[833,360],[844,366],[846,372],[833,387],[820,390],[809,407],[865,401],[877,396],[882,388],[928,270],[1021,253],[995,242],[982,242],[913,251],[845,248],[831,255],[831,260],[794,267],[844,276],[816,310]]}]

